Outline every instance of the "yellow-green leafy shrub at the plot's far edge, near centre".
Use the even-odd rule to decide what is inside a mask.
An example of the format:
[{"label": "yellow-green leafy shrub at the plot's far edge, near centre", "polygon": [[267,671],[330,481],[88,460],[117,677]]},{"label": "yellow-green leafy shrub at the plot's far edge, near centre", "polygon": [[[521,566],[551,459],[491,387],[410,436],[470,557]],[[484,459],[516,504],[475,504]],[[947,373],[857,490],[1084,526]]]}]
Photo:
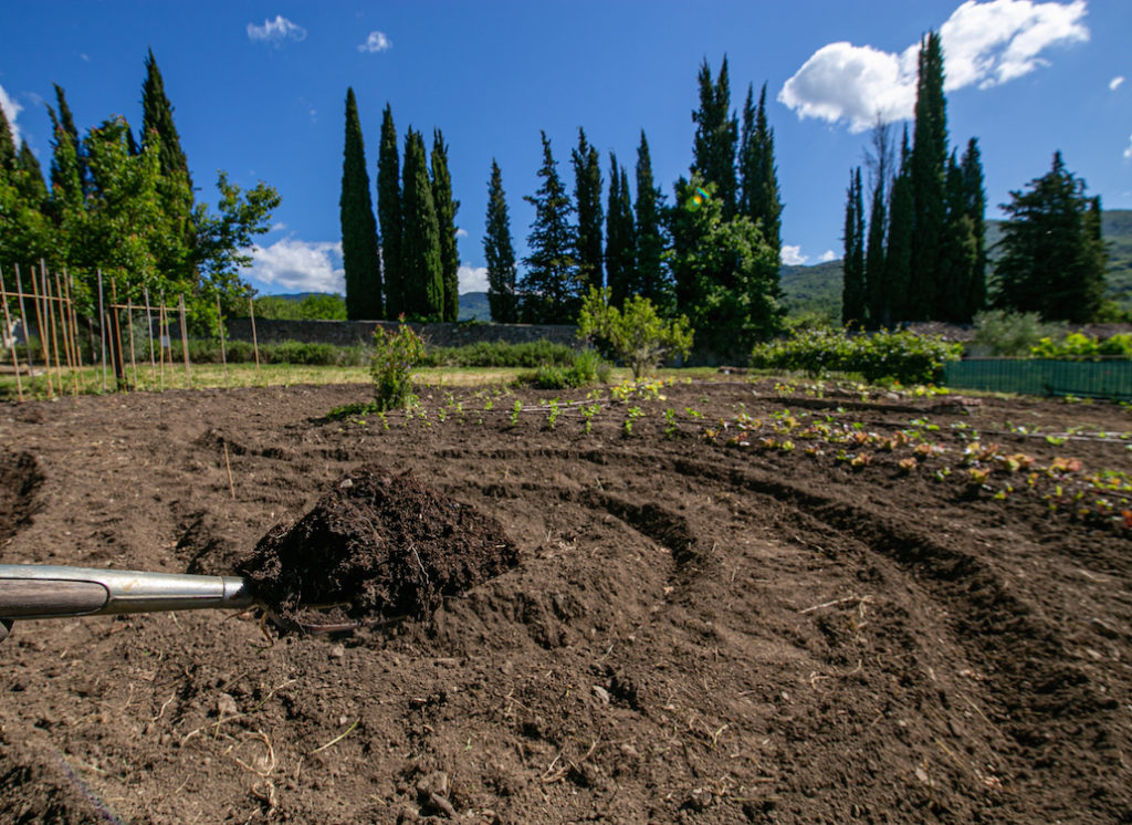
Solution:
[{"label": "yellow-green leafy shrub at the plot's far edge, near centre", "polygon": [[577,334],[608,349],[640,379],[669,354],[692,351],[692,328],[684,316],[664,320],[652,301],[641,295],[625,300],[621,309],[610,306],[609,290],[591,289],[582,302]]}]

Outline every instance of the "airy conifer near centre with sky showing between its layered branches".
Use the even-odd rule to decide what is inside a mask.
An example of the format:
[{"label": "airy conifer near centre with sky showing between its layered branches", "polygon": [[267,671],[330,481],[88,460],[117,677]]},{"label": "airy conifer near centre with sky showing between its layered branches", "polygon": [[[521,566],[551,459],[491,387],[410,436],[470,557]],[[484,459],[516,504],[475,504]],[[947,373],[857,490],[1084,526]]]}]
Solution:
[{"label": "airy conifer near centre with sky showing between its layered branches", "polygon": [[523,199],[534,207],[534,222],[526,237],[530,255],[522,282],[520,316],[528,324],[571,324],[581,303],[577,277],[577,249],[569,196],[558,177],[558,164],[550,151],[550,139],[542,137],[542,184]]}]

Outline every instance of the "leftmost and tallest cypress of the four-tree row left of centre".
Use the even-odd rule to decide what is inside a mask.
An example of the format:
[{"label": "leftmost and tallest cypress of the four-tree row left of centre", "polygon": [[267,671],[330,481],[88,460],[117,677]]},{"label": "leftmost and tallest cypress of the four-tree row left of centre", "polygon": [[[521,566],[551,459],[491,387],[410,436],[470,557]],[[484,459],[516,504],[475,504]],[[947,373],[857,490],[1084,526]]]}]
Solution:
[{"label": "leftmost and tallest cypress of the four-tree row left of centre", "polygon": [[345,148],[342,160],[342,265],[346,276],[346,317],[377,320],[381,307],[381,258],[377,249],[377,222],[369,195],[366,145],[353,88],[346,89]]}]

